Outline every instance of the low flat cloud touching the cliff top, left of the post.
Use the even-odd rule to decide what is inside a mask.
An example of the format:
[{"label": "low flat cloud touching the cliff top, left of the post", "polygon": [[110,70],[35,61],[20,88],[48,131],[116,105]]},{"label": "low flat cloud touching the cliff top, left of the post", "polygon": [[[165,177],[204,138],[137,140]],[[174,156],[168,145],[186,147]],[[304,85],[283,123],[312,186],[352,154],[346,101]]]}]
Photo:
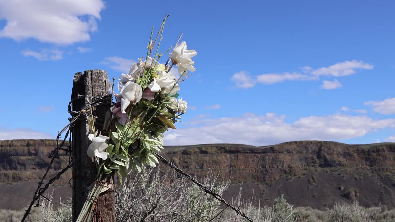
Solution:
[{"label": "low flat cloud touching the cliff top, left of the post", "polygon": [[55,139],[55,137],[51,134],[38,132],[31,129],[0,128],[0,140],[6,139]]}]

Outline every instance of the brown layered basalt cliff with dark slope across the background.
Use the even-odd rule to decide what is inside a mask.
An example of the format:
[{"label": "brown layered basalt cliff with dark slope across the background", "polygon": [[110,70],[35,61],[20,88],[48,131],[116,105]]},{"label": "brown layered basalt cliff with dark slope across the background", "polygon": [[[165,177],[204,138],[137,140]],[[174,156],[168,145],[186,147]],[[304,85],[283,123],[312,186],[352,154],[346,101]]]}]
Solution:
[{"label": "brown layered basalt cliff with dark slope across the background", "polygon": [[[30,201],[33,186],[49,164],[47,154],[55,140],[0,141],[0,193],[7,205],[23,207]],[[219,178],[231,178],[226,196],[237,194],[241,182],[245,197],[256,196],[263,204],[284,197],[295,206],[318,209],[336,202],[358,200],[362,205],[385,204],[395,207],[395,143],[348,145],[330,141],[293,141],[265,147],[239,144],[169,146],[163,155],[196,177],[207,169]],[[48,178],[68,164],[62,152],[53,164]],[[58,181],[55,189],[70,194],[67,188],[71,170]],[[31,187],[30,187],[31,186]],[[22,189],[21,189],[22,187]],[[16,191],[16,189],[18,191]],[[15,196],[25,201],[9,204]],[[30,193],[29,193],[30,192]],[[60,196],[62,196],[60,195]],[[15,201],[14,201],[15,202]]]}]

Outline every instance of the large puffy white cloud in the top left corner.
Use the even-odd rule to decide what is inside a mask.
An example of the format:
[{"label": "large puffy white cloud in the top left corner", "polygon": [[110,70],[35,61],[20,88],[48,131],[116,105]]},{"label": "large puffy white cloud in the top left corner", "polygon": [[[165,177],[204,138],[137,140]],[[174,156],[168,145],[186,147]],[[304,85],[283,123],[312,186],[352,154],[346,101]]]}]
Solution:
[{"label": "large puffy white cloud in the top left corner", "polygon": [[0,37],[64,45],[88,41],[103,8],[102,0],[0,1],[0,18],[7,20]]}]

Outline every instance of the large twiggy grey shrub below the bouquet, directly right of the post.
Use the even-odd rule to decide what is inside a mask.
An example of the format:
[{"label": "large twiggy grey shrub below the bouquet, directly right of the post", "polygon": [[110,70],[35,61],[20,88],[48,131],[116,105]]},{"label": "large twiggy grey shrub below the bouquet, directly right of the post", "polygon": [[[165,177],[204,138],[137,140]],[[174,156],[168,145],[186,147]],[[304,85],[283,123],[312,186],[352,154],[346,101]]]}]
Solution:
[{"label": "large twiggy grey shrub below the bouquet, directly right of the post", "polygon": [[[208,173],[202,183],[222,194],[229,182],[215,186]],[[159,169],[148,169],[129,177],[115,201],[116,221],[120,222],[205,222],[218,212],[220,202],[196,184],[173,171],[160,176]]]}]

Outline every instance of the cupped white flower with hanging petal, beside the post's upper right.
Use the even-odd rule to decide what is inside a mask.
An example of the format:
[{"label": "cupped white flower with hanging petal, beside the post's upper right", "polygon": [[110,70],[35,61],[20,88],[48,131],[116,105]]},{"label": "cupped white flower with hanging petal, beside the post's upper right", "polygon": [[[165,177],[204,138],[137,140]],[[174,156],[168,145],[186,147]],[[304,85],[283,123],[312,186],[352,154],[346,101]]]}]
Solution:
[{"label": "cupped white flower with hanging petal, beside the post's upper right", "polygon": [[141,89],[141,86],[134,82],[127,82],[120,90],[120,93],[122,95],[122,113],[126,113],[125,110],[126,108],[128,108],[130,102],[136,104],[141,100],[141,97],[143,96],[143,90]]}]

